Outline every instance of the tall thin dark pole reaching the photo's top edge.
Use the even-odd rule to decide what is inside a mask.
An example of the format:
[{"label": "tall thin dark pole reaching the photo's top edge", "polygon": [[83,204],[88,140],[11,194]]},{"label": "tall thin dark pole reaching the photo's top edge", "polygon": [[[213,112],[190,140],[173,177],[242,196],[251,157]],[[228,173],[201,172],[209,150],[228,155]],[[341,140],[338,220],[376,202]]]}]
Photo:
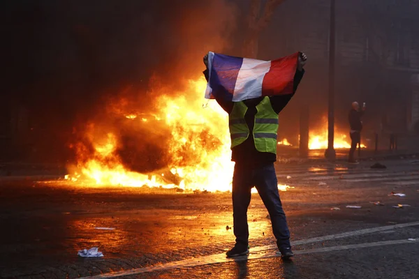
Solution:
[{"label": "tall thin dark pole reaching the photo's top edge", "polygon": [[335,0],[330,0],[329,29],[329,109],[328,109],[328,149],[325,157],[335,160]]}]

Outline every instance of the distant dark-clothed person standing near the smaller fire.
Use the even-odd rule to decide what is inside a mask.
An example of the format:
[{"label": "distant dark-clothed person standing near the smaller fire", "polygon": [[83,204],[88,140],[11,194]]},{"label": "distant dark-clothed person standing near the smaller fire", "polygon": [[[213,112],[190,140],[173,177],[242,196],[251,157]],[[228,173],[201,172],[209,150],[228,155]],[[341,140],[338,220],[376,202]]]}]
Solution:
[{"label": "distant dark-clothed person standing near the smaller fire", "polygon": [[355,160],[355,150],[358,144],[361,142],[361,131],[362,131],[362,121],[361,117],[365,112],[365,103],[360,110],[360,105],[357,102],[352,103],[352,109],[349,112],[349,125],[351,126],[351,149],[349,150],[349,163],[358,164],[358,161]]}]

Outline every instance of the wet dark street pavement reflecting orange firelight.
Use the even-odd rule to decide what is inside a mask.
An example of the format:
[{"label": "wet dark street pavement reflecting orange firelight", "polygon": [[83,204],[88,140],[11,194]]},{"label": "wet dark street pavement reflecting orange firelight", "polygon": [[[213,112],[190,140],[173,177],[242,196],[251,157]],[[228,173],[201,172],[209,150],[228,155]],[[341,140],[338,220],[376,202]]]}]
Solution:
[{"label": "wet dark street pavement reflecting orange firelight", "polygon": [[[372,163],[277,165],[279,183],[294,187],[280,193],[293,262],[275,254],[257,194],[248,213],[251,254],[231,261],[223,256],[234,244],[229,193],[1,181],[0,277],[418,278],[419,164]],[[105,257],[78,257],[93,246]]]}]

